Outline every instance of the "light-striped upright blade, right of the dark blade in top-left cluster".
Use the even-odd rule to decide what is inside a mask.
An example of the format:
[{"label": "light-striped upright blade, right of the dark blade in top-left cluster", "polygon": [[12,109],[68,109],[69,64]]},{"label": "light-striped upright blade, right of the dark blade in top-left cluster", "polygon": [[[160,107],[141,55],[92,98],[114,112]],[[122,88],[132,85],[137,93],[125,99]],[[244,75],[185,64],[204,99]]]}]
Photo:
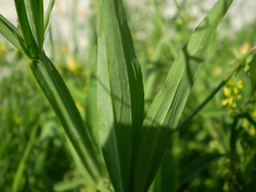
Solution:
[{"label": "light-striped upright blade, right of the dark blade in top-left cluster", "polygon": [[44,5],[43,0],[24,0],[29,26],[39,49],[43,50],[44,44]]}]

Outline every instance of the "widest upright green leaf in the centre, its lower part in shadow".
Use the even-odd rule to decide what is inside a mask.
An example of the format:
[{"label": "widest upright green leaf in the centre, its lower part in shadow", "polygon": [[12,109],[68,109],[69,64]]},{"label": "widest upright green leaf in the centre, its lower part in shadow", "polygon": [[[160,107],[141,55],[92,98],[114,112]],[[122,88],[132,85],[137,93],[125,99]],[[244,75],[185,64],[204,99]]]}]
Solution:
[{"label": "widest upright green leaf in the centre, its lower part in shadow", "polygon": [[115,191],[127,192],[144,92],[122,0],[99,0],[97,95],[105,163]]}]

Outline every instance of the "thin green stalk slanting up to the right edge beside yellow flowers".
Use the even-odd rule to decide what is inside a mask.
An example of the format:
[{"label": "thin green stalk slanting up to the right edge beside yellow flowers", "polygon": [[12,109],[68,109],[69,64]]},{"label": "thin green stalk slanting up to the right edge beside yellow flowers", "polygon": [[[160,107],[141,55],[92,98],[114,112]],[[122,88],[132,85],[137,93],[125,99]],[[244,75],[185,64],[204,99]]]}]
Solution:
[{"label": "thin green stalk slanting up to the right edge beside yellow flowers", "polygon": [[218,85],[218,87],[215,88],[215,90],[212,91],[212,93],[204,100],[204,102],[201,103],[201,105],[198,106],[198,108],[195,109],[195,111],[193,111],[189,116],[186,117],[186,119],[183,120],[183,122],[181,122],[177,128],[176,131],[180,131],[181,128],[184,127],[184,125],[186,125],[187,122],[190,121],[190,119],[192,119],[199,111],[201,111],[202,108],[204,108],[205,105],[207,105],[207,103],[216,95],[216,93],[218,93],[219,90],[221,90],[222,87],[224,87],[224,85],[227,83],[228,80],[230,80],[230,78],[233,76],[234,73],[236,73],[237,71],[239,71],[239,69],[241,68],[242,64],[244,63],[244,61],[246,60],[246,58],[256,49],[256,45],[254,45],[253,47],[251,47],[247,53],[245,53],[245,55],[243,56],[243,58],[241,58],[241,60],[239,61],[238,64],[236,64],[233,69],[231,70],[231,72],[229,73],[229,75],[227,76],[226,79],[222,80],[221,83]]}]

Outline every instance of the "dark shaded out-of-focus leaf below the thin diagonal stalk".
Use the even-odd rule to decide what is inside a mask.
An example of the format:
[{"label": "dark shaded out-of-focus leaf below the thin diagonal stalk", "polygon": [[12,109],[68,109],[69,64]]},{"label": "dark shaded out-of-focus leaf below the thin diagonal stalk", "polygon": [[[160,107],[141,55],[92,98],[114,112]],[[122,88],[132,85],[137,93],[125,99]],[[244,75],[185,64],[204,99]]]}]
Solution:
[{"label": "dark shaded out-of-focus leaf below the thin diagonal stalk", "polygon": [[181,184],[188,183],[194,179],[201,171],[203,171],[209,164],[213,161],[218,160],[220,157],[223,157],[223,154],[207,154],[203,157],[192,161],[187,164],[181,171],[179,175],[179,181]]}]

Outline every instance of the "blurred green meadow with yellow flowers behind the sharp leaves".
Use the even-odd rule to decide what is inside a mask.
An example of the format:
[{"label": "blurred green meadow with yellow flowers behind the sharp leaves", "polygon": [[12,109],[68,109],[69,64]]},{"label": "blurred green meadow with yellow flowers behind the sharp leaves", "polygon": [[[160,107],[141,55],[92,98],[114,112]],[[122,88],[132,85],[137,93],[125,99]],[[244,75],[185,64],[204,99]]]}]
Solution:
[{"label": "blurred green meadow with yellow flowers behind the sharp leaves", "polygon": [[[44,47],[90,127],[96,123],[93,114],[96,114],[98,7],[97,1],[91,0],[83,10],[79,8],[81,2],[84,1],[69,1],[70,6],[63,8],[56,0],[54,24]],[[143,71],[147,113],[177,53],[213,4],[202,0],[124,3]],[[64,19],[63,23],[54,18],[58,14]],[[256,18],[236,25],[233,17],[232,14],[224,17],[216,32],[181,120],[207,98],[235,61],[256,44]],[[244,186],[256,191],[253,183],[256,179],[256,105],[255,96],[251,94],[250,60],[248,58],[224,91],[175,133],[163,161],[172,172],[160,170],[151,191],[156,191],[160,182],[170,183],[177,192],[236,192],[243,191]],[[22,192],[89,192],[70,154],[64,132],[27,63],[26,58],[0,36],[0,191],[11,192],[15,177],[19,177]],[[240,117],[244,113],[252,120]],[[188,181],[179,180],[184,166],[212,153],[229,157],[218,158]],[[160,179],[161,174],[166,175],[166,181]]]}]

